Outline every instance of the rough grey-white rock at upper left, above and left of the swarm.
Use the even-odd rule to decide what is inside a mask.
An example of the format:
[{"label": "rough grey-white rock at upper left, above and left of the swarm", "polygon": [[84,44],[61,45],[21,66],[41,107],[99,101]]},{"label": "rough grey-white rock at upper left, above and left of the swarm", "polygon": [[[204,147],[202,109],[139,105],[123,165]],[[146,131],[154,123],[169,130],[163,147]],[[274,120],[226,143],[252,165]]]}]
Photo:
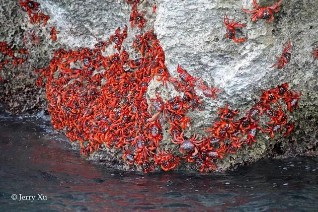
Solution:
[{"label": "rough grey-white rock at upper left, above and left of the swarm", "polygon": [[[29,55],[26,63],[18,67],[7,67],[0,71],[8,82],[0,84],[0,100],[7,103],[7,110],[13,113],[33,113],[46,108],[45,89],[34,86],[36,75],[33,70],[48,65],[53,52],[58,49],[93,48],[98,40],[106,40],[117,27],[129,25],[131,5],[125,0],[37,0],[40,9],[50,16],[48,24],[30,24],[18,0],[0,0],[0,41],[12,44],[15,48],[27,48]],[[145,30],[153,28],[155,16],[152,15],[153,0],[145,1],[141,9],[149,10],[145,18],[149,24]],[[51,26],[60,34],[57,42],[50,37]],[[34,32],[40,39],[39,45],[23,44],[27,33]],[[131,44],[137,29],[129,30],[130,36],[123,47],[133,54]],[[115,52],[108,48],[111,55]],[[2,56],[0,55],[0,59]]]}]

